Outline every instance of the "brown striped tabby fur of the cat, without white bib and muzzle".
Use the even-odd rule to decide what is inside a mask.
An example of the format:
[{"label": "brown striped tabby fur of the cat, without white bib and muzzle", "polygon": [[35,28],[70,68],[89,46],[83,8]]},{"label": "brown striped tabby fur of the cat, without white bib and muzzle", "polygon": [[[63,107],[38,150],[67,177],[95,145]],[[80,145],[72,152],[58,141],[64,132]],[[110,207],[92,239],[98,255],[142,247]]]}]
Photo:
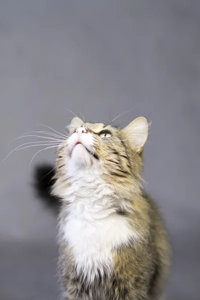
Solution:
[{"label": "brown striped tabby fur of the cat, without white bib and muzzle", "polygon": [[[114,248],[111,275],[105,270],[88,284],[77,274],[72,251],[60,234],[58,272],[63,299],[160,300],[169,271],[170,245],[158,208],[141,187],[142,153],[134,148],[134,141],[125,129],[101,123],[83,125],[95,137],[95,155],[100,161],[102,178],[118,197],[125,199],[123,205],[120,201],[115,203],[116,212],[128,218],[130,226],[140,232],[140,238]],[[97,135],[104,129],[112,133],[107,141]],[[65,188],[68,184],[64,165],[69,157],[65,146],[60,147],[56,170],[59,184],[54,185],[54,194],[58,194],[58,186]],[[65,218],[65,205],[62,204],[60,211],[60,224]]]}]

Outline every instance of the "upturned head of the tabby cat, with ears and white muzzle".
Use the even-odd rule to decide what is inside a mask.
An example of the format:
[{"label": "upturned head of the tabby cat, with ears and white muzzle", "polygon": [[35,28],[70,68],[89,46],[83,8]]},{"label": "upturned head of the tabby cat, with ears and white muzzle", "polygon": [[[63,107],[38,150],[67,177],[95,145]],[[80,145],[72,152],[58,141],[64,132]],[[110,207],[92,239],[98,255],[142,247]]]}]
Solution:
[{"label": "upturned head of the tabby cat, with ears and white muzzle", "polygon": [[140,190],[142,149],[148,134],[145,117],[134,119],[125,128],[74,117],[68,132],[57,150],[57,176],[98,172],[118,191],[131,186]]}]

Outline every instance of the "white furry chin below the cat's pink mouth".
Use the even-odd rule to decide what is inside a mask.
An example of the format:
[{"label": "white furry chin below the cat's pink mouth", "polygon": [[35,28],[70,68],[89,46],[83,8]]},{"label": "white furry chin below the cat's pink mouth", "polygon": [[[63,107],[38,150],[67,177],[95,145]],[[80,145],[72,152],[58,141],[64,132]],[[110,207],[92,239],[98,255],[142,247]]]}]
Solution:
[{"label": "white furry chin below the cat's pink mouth", "polygon": [[81,143],[75,145],[71,153],[71,162],[76,166],[89,166],[91,164],[91,154]]}]

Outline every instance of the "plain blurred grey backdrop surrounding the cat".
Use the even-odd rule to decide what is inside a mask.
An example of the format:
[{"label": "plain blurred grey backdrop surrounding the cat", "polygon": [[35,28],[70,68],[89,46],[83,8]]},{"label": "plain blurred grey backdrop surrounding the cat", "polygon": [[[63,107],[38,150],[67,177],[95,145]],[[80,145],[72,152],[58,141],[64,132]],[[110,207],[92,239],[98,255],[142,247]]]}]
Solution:
[{"label": "plain blurred grey backdrop surrounding the cat", "polygon": [[[199,299],[199,0],[0,0],[0,160],[80,110],[90,121],[152,120],[147,190],[174,251],[167,299]],[[35,128],[35,129],[34,129]],[[54,300],[56,220],[34,196],[33,167],[53,150],[0,164],[0,299]]]}]

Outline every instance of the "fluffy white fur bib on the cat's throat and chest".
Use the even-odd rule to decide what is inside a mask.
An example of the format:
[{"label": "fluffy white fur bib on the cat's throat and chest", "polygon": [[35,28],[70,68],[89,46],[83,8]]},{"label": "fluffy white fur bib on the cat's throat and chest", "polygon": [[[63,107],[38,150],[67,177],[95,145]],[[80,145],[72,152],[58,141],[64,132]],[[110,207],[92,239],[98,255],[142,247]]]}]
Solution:
[{"label": "fluffy white fur bib on the cat's throat and chest", "polygon": [[92,281],[98,271],[111,271],[112,249],[137,238],[137,233],[116,214],[114,203],[120,199],[98,174],[79,173],[65,197],[69,204],[63,237],[72,248],[77,271]]}]

